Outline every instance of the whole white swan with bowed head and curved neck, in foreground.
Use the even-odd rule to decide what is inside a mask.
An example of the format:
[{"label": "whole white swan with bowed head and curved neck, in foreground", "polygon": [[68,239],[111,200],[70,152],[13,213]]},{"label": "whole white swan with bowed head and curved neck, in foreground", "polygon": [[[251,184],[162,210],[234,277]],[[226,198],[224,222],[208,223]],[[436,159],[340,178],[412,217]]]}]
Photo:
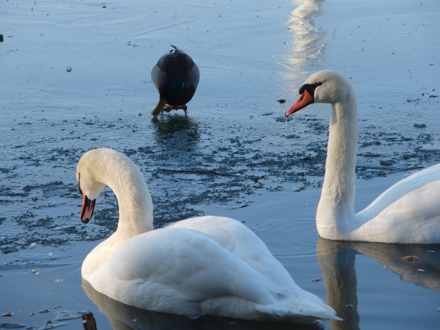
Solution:
[{"label": "whole white swan with bowed head and curved neck, in foreground", "polygon": [[85,258],[81,275],[117,301],[156,312],[249,320],[339,319],[298,287],[264,243],[240,222],[202,216],[153,229],[153,205],[142,173],[108,148],[86,152],[77,165],[81,221],[108,185],[119,204],[113,235]]}]

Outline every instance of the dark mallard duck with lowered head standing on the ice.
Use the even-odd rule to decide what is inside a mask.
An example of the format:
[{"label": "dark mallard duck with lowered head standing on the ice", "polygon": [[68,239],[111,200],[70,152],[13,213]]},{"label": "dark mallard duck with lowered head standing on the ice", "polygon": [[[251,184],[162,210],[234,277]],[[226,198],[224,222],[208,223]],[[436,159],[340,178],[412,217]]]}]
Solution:
[{"label": "dark mallard duck with lowered head standing on the ice", "polygon": [[151,80],[160,95],[158,105],[151,111],[154,117],[163,110],[186,111],[186,103],[191,101],[200,78],[198,67],[191,57],[180,48],[171,47],[174,49],[162,55],[151,70]]}]

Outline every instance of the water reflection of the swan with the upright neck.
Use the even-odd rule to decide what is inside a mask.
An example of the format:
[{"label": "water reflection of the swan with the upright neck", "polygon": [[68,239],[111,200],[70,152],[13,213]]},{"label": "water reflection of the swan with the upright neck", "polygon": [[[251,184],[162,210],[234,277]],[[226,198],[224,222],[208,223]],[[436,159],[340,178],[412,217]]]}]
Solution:
[{"label": "water reflection of the swan with the upright neck", "polygon": [[[357,311],[356,254],[363,254],[428,290],[440,291],[439,244],[387,244],[373,242],[331,241],[318,238],[319,266],[327,290],[327,304],[344,321],[331,321],[333,330],[359,329]],[[403,257],[415,256],[415,261]],[[414,260],[414,258],[413,258]]]}]

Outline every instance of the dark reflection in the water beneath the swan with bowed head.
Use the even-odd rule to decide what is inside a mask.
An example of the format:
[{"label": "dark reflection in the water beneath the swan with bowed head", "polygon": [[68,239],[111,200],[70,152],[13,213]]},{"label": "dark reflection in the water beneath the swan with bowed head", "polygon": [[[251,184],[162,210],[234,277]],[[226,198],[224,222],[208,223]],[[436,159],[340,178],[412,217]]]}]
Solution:
[{"label": "dark reflection in the water beneath the swan with bowed head", "polygon": [[[87,297],[107,316],[113,330],[322,330],[319,324],[257,322],[219,316],[190,319],[183,315],[151,312],[113,300],[93,289],[86,280],[82,282]],[[99,323],[96,328],[87,330],[96,329],[102,330]]]}]

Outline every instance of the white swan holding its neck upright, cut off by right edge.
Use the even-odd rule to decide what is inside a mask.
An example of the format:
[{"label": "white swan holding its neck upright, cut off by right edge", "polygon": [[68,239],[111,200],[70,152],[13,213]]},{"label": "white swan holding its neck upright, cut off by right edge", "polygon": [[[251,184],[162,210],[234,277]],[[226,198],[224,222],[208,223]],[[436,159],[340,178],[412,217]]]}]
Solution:
[{"label": "white swan holding its neck upright, cut off by right edge", "polygon": [[440,164],[399,181],[354,212],[357,98],[341,73],[313,73],[286,117],[311,103],[331,103],[326,173],[316,212],[323,238],[384,243],[440,243]]}]

